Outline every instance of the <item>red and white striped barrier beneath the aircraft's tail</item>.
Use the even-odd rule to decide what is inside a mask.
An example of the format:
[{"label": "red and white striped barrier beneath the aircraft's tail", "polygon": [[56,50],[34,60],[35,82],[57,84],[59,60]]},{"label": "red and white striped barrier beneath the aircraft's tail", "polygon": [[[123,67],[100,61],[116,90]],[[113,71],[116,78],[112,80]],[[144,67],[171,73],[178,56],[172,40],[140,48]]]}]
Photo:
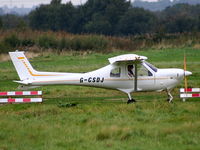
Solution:
[{"label": "red and white striped barrier beneath the aircraft's tail", "polygon": [[[39,98],[12,98],[13,96],[40,96]],[[0,103],[40,103],[42,102],[42,91],[10,91],[0,92]],[[12,97],[11,97],[12,96]]]}]

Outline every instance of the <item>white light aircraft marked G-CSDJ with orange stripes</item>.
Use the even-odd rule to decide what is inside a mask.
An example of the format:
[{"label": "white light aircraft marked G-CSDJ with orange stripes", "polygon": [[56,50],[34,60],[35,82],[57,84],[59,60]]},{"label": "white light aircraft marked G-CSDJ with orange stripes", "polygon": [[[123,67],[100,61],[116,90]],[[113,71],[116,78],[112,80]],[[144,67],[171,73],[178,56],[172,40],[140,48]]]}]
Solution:
[{"label": "white light aircraft marked G-CSDJ with orange stripes", "polygon": [[41,72],[33,69],[24,52],[9,52],[20,81],[14,81],[30,89],[44,85],[84,85],[116,89],[128,94],[127,103],[135,102],[131,92],[163,91],[168,101],[173,97],[170,91],[184,76],[192,73],[183,69],[158,69],[146,61],[147,57],[125,54],[109,58],[110,64],[87,73]]}]

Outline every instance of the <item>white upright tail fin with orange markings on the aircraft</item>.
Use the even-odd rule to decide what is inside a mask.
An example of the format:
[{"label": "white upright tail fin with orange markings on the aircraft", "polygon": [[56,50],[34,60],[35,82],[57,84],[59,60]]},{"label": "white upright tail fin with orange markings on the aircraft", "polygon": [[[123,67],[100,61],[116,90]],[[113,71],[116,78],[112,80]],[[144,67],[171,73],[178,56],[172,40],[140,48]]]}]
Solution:
[{"label": "white upright tail fin with orange markings on the aircraft", "polygon": [[20,80],[32,79],[33,72],[37,72],[33,69],[28,59],[22,51],[9,52],[10,58],[15,66],[17,74]]}]

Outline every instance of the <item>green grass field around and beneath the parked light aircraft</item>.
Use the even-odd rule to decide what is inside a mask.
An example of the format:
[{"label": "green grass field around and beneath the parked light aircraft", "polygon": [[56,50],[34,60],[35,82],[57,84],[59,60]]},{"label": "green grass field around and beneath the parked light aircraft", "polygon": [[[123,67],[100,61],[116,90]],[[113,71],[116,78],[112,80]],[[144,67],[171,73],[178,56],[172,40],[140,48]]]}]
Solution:
[{"label": "green grass field around and beneath the parked light aircraft", "polygon": [[[41,71],[87,72],[108,64],[107,58],[124,53],[147,56],[160,68],[183,68],[193,72],[190,87],[200,87],[200,50],[163,49],[117,51],[108,54],[43,53],[31,59]],[[17,73],[11,61],[0,61],[0,91],[17,90]],[[185,103],[176,87],[169,104],[166,93],[134,93],[136,104],[114,90],[81,86],[47,86],[42,104],[0,106],[0,150],[199,150],[200,99]],[[76,103],[75,107],[59,104]]]}]

